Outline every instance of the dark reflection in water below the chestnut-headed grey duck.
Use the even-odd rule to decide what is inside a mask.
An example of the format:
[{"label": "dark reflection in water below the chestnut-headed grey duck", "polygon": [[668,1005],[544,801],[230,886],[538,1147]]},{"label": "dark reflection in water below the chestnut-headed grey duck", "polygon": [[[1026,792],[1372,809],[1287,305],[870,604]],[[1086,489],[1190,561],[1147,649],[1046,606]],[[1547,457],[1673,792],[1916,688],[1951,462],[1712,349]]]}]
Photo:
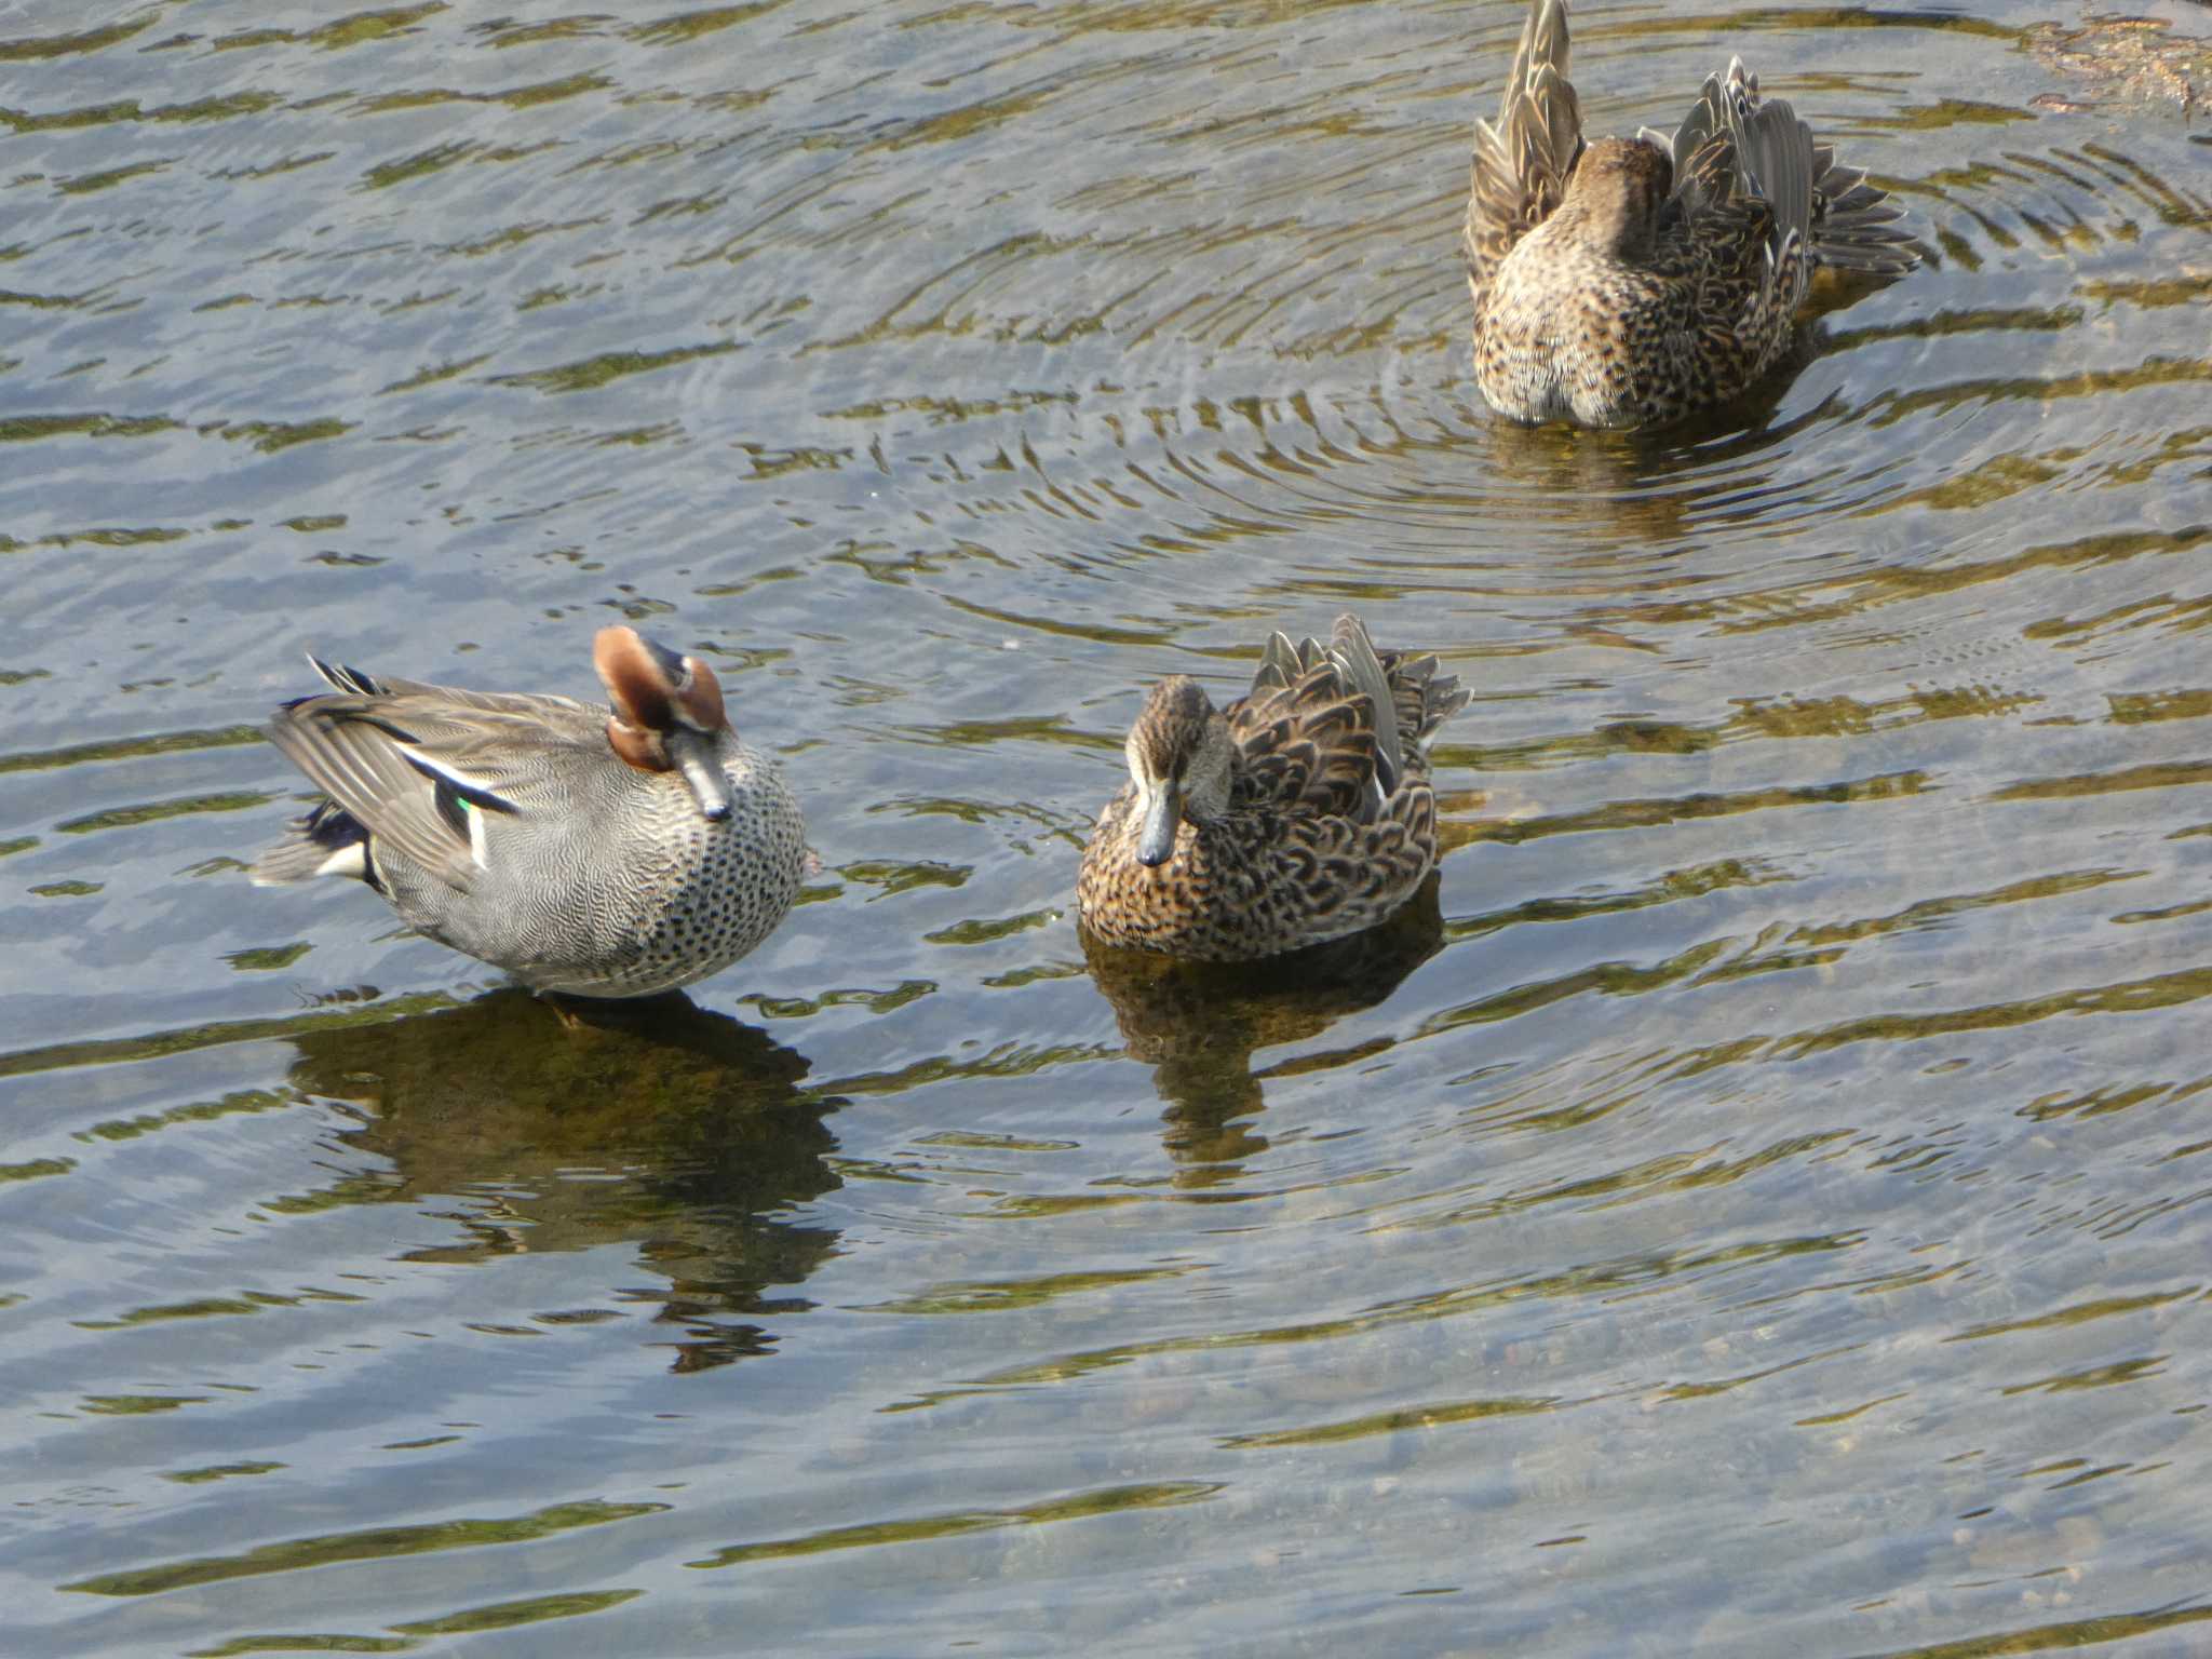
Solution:
[{"label": "dark reflection in water below the chestnut-headed grey duck", "polygon": [[836,1245],[770,1219],[841,1186],[803,1055],[670,993],[591,1009],[560,1042],[529,991],[296,1035],[292,1082],[356,1119],[343,1139],[392,1164],[332,1197],[449,1212],[467,1243],[414,1261],[633,1243],[668,1279],[675,1369],[765,1352],[748,1316]]}]

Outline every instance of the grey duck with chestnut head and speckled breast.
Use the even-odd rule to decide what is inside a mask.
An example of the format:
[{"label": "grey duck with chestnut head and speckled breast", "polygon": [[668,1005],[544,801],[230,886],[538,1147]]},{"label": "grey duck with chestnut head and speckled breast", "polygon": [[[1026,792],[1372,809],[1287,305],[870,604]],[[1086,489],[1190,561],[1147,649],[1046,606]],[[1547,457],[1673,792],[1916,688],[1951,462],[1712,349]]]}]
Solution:
[{"label": "grey duck with chestnut head and speckled breast", "polygon": [[330,690],[268,734],[325,799],[254,860],[259,887],[358,880],[418,933],[577,998],[719,973],[799,896],[799,799],[699,657],[602,628],[606,708],[307,661]]}]

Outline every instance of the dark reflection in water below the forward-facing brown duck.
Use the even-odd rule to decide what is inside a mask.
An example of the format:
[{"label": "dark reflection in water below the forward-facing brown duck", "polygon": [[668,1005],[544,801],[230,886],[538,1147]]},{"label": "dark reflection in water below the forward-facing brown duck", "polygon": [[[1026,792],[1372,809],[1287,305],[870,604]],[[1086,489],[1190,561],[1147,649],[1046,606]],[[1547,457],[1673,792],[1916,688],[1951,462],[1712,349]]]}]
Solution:
[{"label": "dark reflection in water below the forward-facing brown duck", "polygon": [[1181,1164],[1177,1186],[1234,1181],[1267,1150],[1252,1121],[1263,1084],[1358,1064],[1389,1046],[1369,1040],[1252,1068],[1259,1048],[1310,1042],[1347,1013],[1383,1002],[1444,945],[1438,878],[1380,927],[1261,962],[1192,962],[1106,945],[1082,931],[1091,978],[1113,1004],[1128,1057],[1152,1066],[1166,1102],[1161,1144]]}]

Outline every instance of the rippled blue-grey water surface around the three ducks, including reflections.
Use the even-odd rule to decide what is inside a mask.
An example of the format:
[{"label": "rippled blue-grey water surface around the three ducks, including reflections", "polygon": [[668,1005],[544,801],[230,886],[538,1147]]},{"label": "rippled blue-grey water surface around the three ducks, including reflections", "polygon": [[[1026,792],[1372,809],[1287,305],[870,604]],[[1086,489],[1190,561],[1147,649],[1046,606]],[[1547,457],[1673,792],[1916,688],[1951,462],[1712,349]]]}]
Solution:
[{"label": "rippled blue-grey water surface around the three ducks, including reflections", "polygon": [[[1473,389],[1515,4],[602,7],[0,4],[0,1648],[2205,1652],[2172,31],[1579,7],[1929,252],[1632,440]],[[1433,894],[1086,956],[1141,686],[1345,606]],[[823,858],[695,1006],[246,885],[303,648],[619,617]]]}]

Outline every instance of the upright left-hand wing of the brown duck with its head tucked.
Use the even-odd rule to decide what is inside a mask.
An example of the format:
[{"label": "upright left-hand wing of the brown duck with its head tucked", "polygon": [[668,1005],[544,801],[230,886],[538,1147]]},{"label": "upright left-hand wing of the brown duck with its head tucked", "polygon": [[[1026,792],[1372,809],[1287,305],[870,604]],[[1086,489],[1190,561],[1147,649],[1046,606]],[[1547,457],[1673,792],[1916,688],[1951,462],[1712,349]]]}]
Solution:
[{"label": "upright left-hand wing of the brown duck with its head tucked", "polygon": [[1475,122],[1460,246],[1480,301],[1513,243],[1540,226],[1582,155],[1582,102],[1566,77],[1566,0],[1531,0],[1498,124]]}]

